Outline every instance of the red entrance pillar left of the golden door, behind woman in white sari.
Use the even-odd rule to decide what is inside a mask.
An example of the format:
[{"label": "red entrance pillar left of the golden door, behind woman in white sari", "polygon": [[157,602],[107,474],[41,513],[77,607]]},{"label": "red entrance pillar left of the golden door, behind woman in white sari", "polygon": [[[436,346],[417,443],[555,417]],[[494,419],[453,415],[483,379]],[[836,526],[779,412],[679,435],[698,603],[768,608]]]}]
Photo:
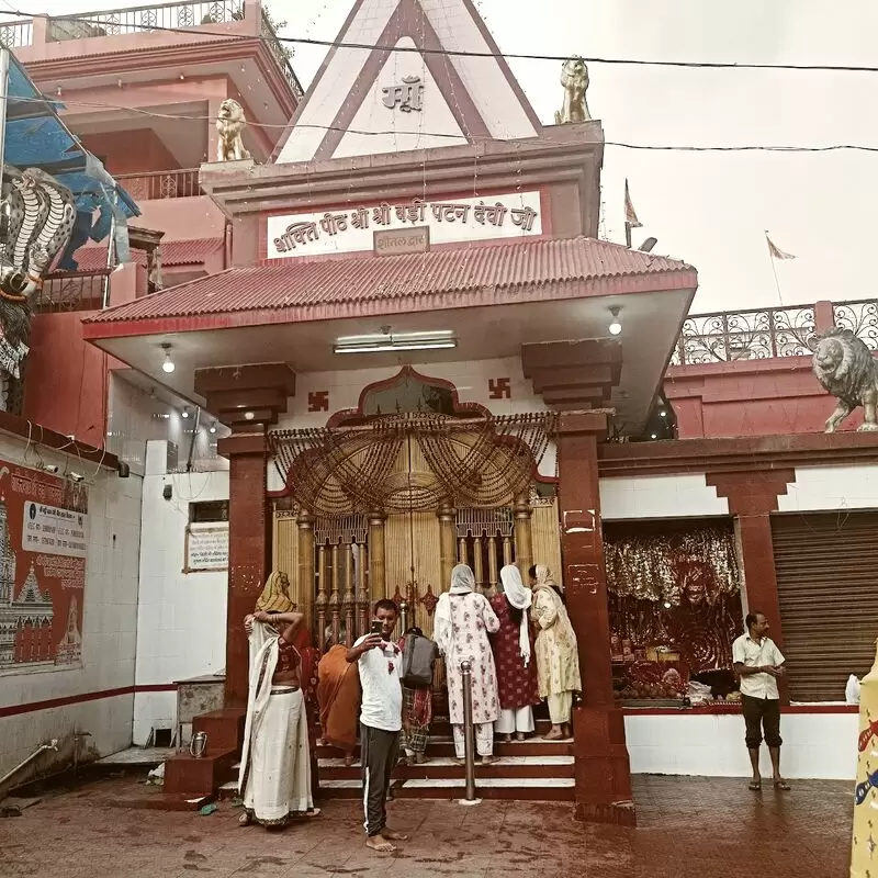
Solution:
[{"label": "red entrance pillar left of the golden door, behind woman in white sari", "polygon": [[271,541],[266,514],[266,438],[259,434],[224,440],[228,455],[228,608],[226,611],[225,706],[245,707],[250,653],[244,617],[268,578]]}]

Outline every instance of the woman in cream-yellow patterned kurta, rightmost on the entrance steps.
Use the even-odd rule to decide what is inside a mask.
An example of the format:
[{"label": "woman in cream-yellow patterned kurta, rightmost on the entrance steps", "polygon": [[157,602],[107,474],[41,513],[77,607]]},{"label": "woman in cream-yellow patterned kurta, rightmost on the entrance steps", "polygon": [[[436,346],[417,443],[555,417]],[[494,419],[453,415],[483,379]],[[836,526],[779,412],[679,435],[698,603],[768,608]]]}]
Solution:
[{"label": "woman in cream-yellow patterned kurta, rightmost on the entrance steps", "polygon": [[561,590],[544,564],[530,569],[533,606],[531,618],[539,627],[537,634],[537,677],[540,698],[549,703],[552,730],[547,741],[571,736],[570,719],[573,694],[582,691],[579,653],[576,633],[561,599]]}]

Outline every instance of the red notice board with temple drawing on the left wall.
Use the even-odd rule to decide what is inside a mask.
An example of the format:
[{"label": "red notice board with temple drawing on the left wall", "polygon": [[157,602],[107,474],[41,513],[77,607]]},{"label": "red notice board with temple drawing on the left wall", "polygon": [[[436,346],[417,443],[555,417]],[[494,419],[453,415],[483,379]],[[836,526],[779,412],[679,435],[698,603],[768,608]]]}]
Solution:
[{"label": "red notice board with temple drawing on the left wall", "polygon": [[78,667],[88,488],[0,460],[0,674]]}]

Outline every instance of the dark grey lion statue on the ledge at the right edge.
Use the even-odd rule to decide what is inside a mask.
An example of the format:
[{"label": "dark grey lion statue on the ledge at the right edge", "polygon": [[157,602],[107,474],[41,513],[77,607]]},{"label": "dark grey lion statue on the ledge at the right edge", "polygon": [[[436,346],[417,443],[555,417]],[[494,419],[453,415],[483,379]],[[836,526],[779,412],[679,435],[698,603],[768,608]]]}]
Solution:
[{"label": "dark grey lion statue on the ledge at the right edge", "polygon": [[826,419],[826,432],[835,432],[858,405],[864,409],[859,429],[878,430],[878,362],[863,339],[841,326],[823,333],[814,351],[814,374],[838,402]]}]

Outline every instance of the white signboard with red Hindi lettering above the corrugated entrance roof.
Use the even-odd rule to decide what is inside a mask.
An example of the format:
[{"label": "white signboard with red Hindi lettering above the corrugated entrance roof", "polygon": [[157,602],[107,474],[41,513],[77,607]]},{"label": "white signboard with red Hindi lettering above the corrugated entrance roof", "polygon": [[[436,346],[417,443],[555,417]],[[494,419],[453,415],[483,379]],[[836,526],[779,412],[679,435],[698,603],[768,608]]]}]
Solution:
[{"label": "white signboard with red Hindi lettering above the corrugated entrance roof", "polygon": [[269,216],[267,255],[288,259],[378,252],[376,236],[387,230],[426,228],[430,245],[527,238],[542,234],[541,210],[540,193],[533,191]]}]

